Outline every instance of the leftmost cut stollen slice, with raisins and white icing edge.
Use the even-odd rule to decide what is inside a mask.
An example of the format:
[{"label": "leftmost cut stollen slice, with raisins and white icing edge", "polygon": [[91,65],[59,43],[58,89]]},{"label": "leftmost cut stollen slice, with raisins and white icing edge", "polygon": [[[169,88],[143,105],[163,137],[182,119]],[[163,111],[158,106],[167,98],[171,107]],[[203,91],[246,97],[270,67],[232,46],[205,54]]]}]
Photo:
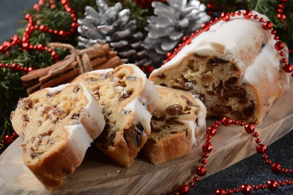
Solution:
[{"label": "leftmost cut stollen slice, with raisins and white icing edge", "polygon": [[48,188],[60,185],[105,127],[100,105],[84,84],[64,84],[19,100],[11,113],[24,164]]}]

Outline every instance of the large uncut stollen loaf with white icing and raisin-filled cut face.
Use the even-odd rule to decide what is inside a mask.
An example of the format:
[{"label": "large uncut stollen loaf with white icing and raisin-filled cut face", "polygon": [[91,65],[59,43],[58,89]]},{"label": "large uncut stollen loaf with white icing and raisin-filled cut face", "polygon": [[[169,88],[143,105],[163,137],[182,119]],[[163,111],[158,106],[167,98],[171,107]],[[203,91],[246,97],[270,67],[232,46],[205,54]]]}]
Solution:
[{"label": "large uncut stollen loaf with white icing and raisin-filled cut face", "polygon": [[[264,21],[269,19],[255,11]],[[231,17],[210,26],[150,80],[197,95],[208,115],[260,124],[272,103],[289,88],[289,74],[274,48],[271,31],[258,20]],[[288,48],[285,46],[285,57]]]}]

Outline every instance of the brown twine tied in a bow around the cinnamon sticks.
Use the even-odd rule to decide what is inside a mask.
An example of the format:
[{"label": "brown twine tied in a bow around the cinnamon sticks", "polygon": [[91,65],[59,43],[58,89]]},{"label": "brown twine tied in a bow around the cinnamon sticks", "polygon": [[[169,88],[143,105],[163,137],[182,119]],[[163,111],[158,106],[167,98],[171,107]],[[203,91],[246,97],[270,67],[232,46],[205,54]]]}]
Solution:
[{"label": "brown twine tied in a bow around the cinnamon sticks", "polygon": [[[64,43],[49,43],[49,46],[54,48],[65,48],[70,51],[70,55],[66,56],[66,58],[63,61],[60,61],[60,65],[57,68],[52,68],[49,71],[49,74],[51,75],[57,75],[60,73],[63,73],[64,70],[68,70],[68,67],[73,65],[73,62],[78,61],[78,67],[80,69],[80,74],[92,71],[92,66],[90,63],[90,58],[88,57],[89,53],[94,52],[97,49],[102,48],[102,45],[97,44],[93,47],[77,50],[75,47],[73,47],[70,44],[64,44]],[[74,68],[73,66],[70,68]]]}]

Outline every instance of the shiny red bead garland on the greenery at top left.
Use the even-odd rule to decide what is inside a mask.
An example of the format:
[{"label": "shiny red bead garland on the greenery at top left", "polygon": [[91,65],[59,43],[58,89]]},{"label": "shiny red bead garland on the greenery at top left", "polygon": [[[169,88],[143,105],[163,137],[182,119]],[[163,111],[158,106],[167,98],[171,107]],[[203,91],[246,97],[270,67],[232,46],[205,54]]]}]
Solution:
[{"label": "shiny red bead garland on the greenery at top left", "polygon": [[[67,0],[61,0],[63,6],[65,7],[66,12],[70,13],[71,18],[73,20],[71,26],[72,28],[70,29],[70,31],[66,32],[66,31],[58,31],[58,30],[53,30],[53,29],[49,29],[49,27],[45,26],[45,25],[41,25],[39,26],[38,24],[40,23],[40,21],[38,20],[36,23],[33,20],[33,17],[30,14],[26,14],[25,15],[25,20],[28,20],[29,23],[27,24],[26,28],[25,28],[25,32],[23,33],[23,37],[22,39],[20,39],[17,35],[13,36],[11,38],[11,42],[9,41],[4,41],[3,44],[0,46],[0,53],[5,53],[6,55],[9,55],[9,50],[12,48],[13,45],[21,45],[22,46],[22,51],[25,52],[27,50],[38,50],[38,51],[45,51],[47,50],[48,52],[51,53],[51,56],[53,59],[55,59],[56,61],[58,61],[59,59],[59,55],[58,53],[54,52],[52,49],[48,48],[47,46],[43,46],[42,44],[39,45],[31,45],[29,42],[29,38],[31,37],[31,34],[35,31],[40,29],[41,32],[46,33],[52,33],[52,34],[56,34],[56,35],[60,35],[62,37],[66,37],[68,35],[71,35],[72,33],[75,32],[75,30],[78,28],[78,23],[77,18],[75,17],[74,14],[74,10],[72,10],[69,5],[68,5],[68,1]],[[51,7],[51,9],[54,9],[56,7],[54,3],[54,0],[50,0],[48,4],[46,4],[47,7]],[[40,5],[43,4],[43,0],[39,1],[39,4],[35,4],[34,5],[34,9],[39,11],[40,10]],[[37,15],[36,18],[38,19],[39,16]],[[22,67],[20,66],[18,63],[13,63],[13,64],[5,64],[4,63],[0,63],[0,68],[11,68],[13,71],[24,71],[24,72],[30,72],[32,70],[34,70],[33,67]]]}]

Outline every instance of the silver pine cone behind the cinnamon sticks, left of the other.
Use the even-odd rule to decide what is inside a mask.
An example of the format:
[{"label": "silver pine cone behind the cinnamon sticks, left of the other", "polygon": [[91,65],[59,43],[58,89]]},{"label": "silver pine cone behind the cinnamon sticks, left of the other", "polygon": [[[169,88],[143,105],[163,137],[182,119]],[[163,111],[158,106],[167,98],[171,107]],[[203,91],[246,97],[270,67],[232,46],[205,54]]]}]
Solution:
[{"label": "silver pine cone behind the cinnamon sticks, left of the other", "polygon": [[98,11],[85,7],[85,18],[78,20],[81,35],[78,44],[89,48],[96,43],[109,43],[123,62],[147,66],[143,34],[136,29],[136,20],[130,20],[130,10],[122,9],[120,2],[108,6],[104,0],[96,0]]}]

